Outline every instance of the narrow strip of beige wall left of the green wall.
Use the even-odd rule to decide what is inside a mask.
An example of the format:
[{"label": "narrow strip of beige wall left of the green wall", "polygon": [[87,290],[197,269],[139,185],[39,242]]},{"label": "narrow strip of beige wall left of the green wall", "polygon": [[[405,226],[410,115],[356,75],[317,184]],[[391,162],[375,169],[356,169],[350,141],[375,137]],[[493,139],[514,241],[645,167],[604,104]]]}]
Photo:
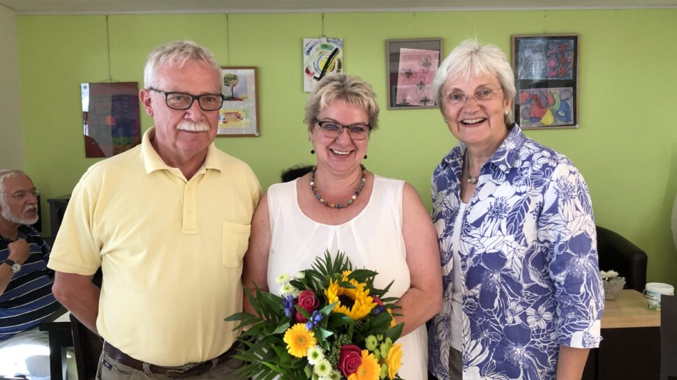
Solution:
[{"label": "narrow strip of beige wall left of the green wall", "polygon": [[14,11],[2,5],[0,52],[0,169],[24,169],[17,23]]}]

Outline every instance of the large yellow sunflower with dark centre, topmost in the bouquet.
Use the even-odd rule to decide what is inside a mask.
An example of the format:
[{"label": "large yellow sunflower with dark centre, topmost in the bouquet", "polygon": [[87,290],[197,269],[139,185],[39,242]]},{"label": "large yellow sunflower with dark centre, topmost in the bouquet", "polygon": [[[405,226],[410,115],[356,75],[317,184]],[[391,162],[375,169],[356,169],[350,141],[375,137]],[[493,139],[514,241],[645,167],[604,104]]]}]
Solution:
[{"label": "large yellow sunflower with dark centre, topmost in the bouquet", "polygon": [[369,289],[364,289],[366,284],[357,282],[357,280],[348,280],[348,275],[343,273],[343,282],[350,282],[354,289],[339,286],[338,281],[329,280],[329,287],[325,289],[325,297],[329,303],[339,301],[334,306],[334,312],[340,312],[348,317],[360,319],[373,309],[377,304],[373,297],[369,296]]}]

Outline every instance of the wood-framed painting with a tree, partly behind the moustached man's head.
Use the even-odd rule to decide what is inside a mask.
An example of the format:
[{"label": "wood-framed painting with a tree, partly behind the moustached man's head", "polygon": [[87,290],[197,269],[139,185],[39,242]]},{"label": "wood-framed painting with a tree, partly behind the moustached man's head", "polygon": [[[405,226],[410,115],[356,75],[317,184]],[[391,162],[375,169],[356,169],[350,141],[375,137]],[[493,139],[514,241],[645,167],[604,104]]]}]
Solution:
[{"label": "wood-framed painting with a tree, partly behind the moustached man's head", "polygon": [[218,112],[217,136],[259,136],[255,67],[222,67],[225,96]]}]

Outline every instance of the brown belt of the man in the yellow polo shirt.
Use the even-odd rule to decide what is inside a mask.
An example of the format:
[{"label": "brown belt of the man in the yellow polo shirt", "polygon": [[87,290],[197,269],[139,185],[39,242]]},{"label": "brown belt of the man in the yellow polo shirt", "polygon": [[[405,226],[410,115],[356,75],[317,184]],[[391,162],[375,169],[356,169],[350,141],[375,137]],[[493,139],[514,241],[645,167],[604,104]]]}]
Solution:
[{"label": "brown belt of the man in the yellow polo shirt", "polygon": [[135,358],[132,358],[131,356],[125,354],[119,349],[111,346],[108,342],[104,342],[103,352],[105,352],[113,360],[117,361],[117,363],[124,364],[128,367],[132,367],[135,370],[145,372],[144,370],[145,364],[148,366],[148,369],[152,374],[162,374],[167,377],[172,377],[174,379],[184,379],[186,377],[193,377],[203,374],[204,372],[207,372],[212,368],[216,367],[216,365],[225,362],[225,360],[228,360],[228,358],[237,354],[237,349],[235,346],[236,345],[233,344],[233,346],[230,347],[228,351],[225,351],[223,354],[217,356],[214,359],[207,360],[202,363],[197,363],[193,365],[193,367],[188,368],[170,368],[150,363],[144,363],[141,360],[136,360]]}]

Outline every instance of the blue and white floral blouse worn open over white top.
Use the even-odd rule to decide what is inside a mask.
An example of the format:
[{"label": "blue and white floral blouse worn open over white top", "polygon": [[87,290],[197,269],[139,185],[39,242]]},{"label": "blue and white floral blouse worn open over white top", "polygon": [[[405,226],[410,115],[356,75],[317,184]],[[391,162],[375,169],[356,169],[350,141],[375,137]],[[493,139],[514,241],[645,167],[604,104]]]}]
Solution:
[{"label": "blue and white floral blouse worn open over white top", "polygon": [[[466,147],[433,173],[442,311],[429,370],[449,379],[452,231]],[[560,345],[599,347],[604,291],[588,186],[560,153],[514,126],[484,164],[461,229],[463,379],[555,379]]]}]

